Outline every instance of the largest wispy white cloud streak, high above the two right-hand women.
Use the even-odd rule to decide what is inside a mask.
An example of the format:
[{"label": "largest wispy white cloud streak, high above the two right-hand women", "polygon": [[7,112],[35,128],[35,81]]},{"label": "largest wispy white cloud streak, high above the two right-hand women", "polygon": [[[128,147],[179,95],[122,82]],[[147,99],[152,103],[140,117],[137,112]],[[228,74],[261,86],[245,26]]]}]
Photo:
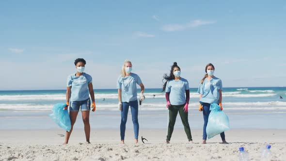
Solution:
[{"label": "largest wispy white cloud streak, high above the two right-hand women", "polygon": [[188,28],[195,28],[199,27],[202,25],[208,25],[208,24],[213,24],[216,23],[216,21],[205,21],[201,19],[196,19],[191,21],[190,23],[187,24],[168,24],[162,27],[162,30],[165,32],[175,32],[175,31],[183,31]]}]

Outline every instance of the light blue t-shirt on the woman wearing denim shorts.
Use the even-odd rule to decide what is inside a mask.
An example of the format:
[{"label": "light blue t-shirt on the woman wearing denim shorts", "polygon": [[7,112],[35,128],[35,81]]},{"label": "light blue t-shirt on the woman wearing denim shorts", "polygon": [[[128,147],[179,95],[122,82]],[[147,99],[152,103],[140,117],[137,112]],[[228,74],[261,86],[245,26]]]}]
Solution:
[{"label": "light blue t-shirt on the woman wearing denim shorts", "polygon": [[71,74],[67,77],[67,87],[71,86],[71,101],[82,101],[89,98],[88,84],[92,83],[92,77],[86,73],[81,76]]}]

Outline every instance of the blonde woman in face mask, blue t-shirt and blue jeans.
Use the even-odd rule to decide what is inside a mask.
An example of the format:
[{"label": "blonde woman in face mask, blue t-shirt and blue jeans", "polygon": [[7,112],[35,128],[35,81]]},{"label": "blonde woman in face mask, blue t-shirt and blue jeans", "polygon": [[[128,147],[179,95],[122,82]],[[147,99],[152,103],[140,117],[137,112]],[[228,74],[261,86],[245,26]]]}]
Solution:
[{"label": "blonde woman in face mask, blue t-shirt and blue jeans", "polygon": [[121,111],[121,124],[120,124],[121,144],[124,144],[129,106],[132,114],[135,144],[138,143],[139,123],[138,123],[138,100],[137,100],[136,84],[140,85],[141,87],[140,100],[143,101],[145,99],[143,95],[144,85],[140,77],[135,73],[131,73],[131,71],[132,71],[132,63],[126,60],[122,66],[121,76],[117,80],[118,101],[119,101],[118,108]]}]

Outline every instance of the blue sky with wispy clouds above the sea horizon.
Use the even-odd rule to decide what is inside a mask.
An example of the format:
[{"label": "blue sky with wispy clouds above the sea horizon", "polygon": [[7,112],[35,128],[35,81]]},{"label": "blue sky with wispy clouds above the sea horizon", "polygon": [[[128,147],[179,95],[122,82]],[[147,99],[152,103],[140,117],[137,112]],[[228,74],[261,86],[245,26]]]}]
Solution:
[{"label": "blue sky with wispy clouds above the sea horizon", "polygon": [[225,87],[286,86],[286,1],[0,1],[0,90],[65,89],[79,57],[95,89],[125,59],[146,88],[173,62],[191,87],[207,63]]}]

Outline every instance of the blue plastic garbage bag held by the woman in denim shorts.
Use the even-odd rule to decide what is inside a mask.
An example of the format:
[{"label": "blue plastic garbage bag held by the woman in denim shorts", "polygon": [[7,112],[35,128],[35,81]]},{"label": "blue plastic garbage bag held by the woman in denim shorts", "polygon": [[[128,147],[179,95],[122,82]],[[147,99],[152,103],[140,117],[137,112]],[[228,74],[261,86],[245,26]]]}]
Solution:
[{"label": "blue plastic garbage bag held by the woman in denim shorts", "polygon": [[52,109],[52,114],[49,116],[58,124],[61,128],[69,131],[71,129],[70,118],[67,110],[64,110],[65,103],[57,103]]}]

